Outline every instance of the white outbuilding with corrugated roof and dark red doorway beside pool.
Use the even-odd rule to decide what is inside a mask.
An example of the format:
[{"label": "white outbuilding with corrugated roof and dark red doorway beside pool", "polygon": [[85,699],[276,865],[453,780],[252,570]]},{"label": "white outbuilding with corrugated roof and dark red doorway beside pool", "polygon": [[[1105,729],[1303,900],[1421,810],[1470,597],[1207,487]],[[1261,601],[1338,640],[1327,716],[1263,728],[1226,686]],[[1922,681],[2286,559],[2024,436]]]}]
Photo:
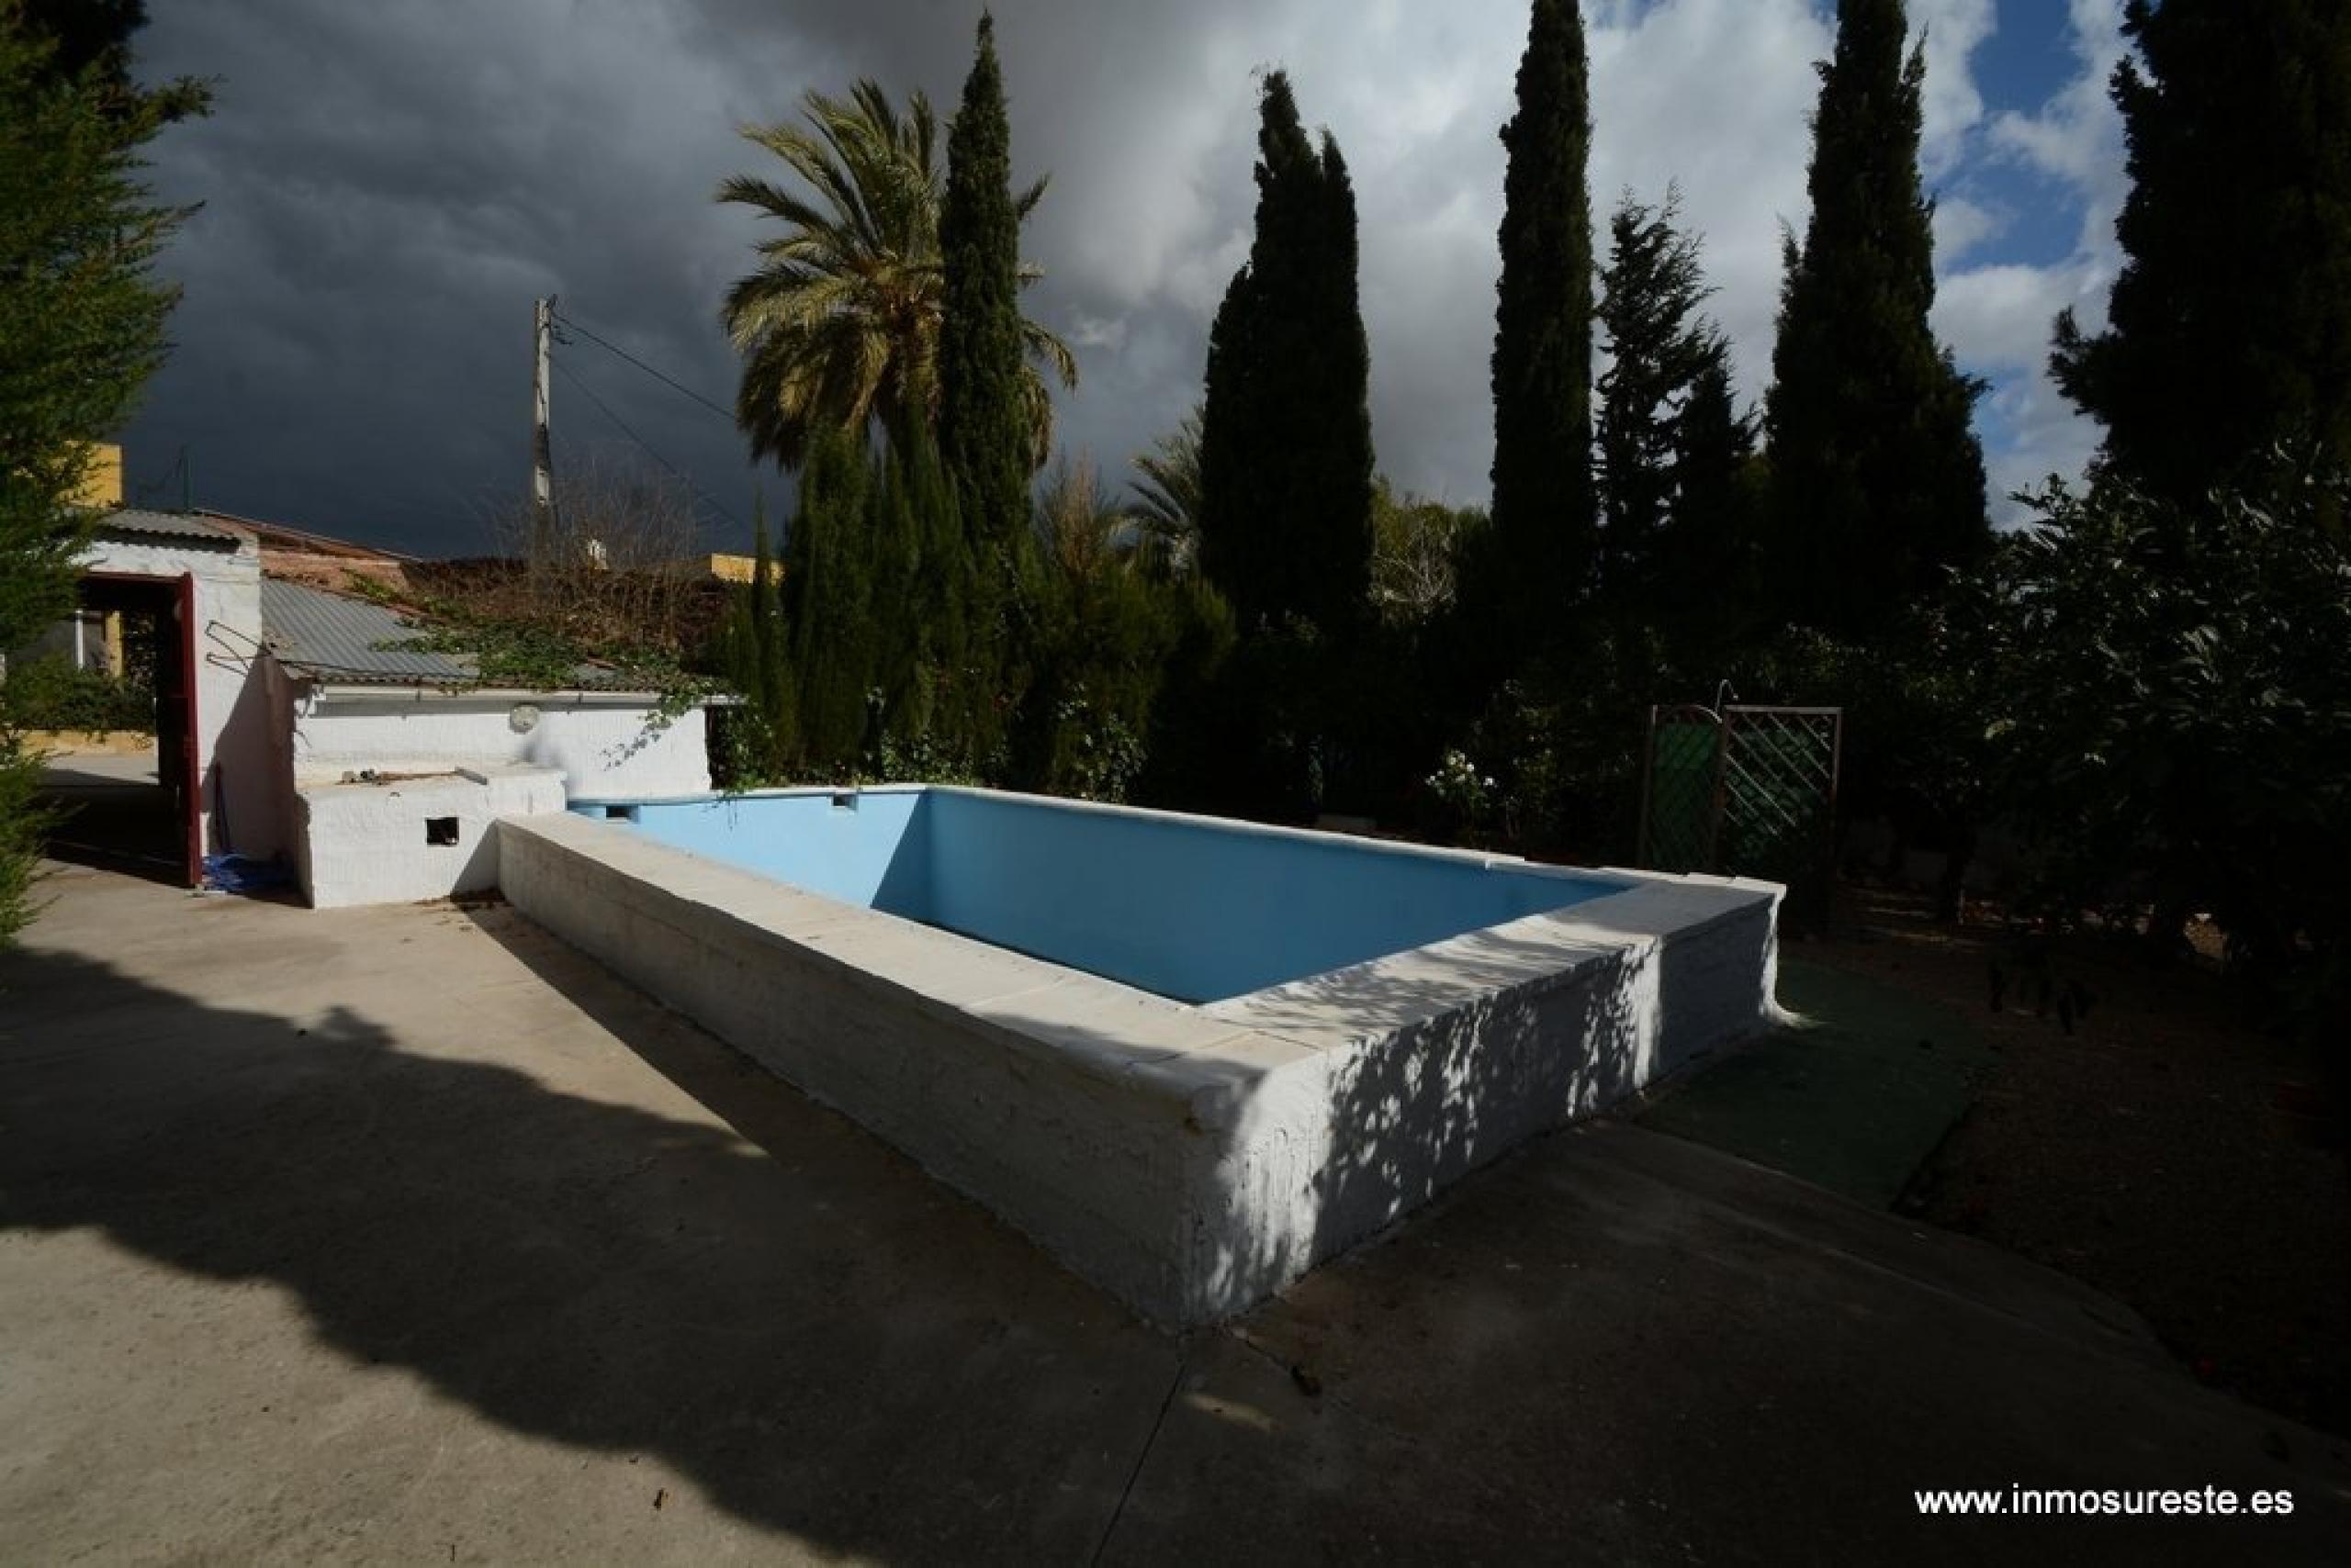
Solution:
[{"label": "white outbuilding with corrugated roof and dark red doorway beside pool", "polygon": [[442,898],[496,884],[498,816],[710,790],[698,705],[592,665],[487,684],[386,604],[266,576],[223,520],[108,510],[80,574],[87,614],[153,630],[155,816],[190,886],[280,863],[320,907]]}]

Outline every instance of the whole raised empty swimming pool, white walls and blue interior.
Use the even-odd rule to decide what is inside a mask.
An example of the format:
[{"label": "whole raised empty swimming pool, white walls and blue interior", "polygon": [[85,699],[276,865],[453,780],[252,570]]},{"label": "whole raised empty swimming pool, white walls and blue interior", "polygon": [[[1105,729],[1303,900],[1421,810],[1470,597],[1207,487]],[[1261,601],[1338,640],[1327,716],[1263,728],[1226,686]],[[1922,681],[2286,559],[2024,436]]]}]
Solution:
[{"label": "whole raised empty swimming pool, white walls and blue interior", "polygon": [[1780,889],[964,788],[501,818],[508,900],[1164,1324],[1768,1020]]}]

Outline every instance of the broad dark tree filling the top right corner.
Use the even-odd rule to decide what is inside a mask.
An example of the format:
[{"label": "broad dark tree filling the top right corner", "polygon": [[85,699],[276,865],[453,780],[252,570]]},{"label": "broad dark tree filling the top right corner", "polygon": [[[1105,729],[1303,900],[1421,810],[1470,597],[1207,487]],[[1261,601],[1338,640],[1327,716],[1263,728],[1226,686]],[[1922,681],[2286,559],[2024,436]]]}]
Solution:
[{"label": "broad dark tree filling the top right corner", "polygon": [[2106,461],[2201,498],[2280,440],[2351,461],[2351,7],[2132,0],[2111,327],[2057,320],[2052,371]]}]

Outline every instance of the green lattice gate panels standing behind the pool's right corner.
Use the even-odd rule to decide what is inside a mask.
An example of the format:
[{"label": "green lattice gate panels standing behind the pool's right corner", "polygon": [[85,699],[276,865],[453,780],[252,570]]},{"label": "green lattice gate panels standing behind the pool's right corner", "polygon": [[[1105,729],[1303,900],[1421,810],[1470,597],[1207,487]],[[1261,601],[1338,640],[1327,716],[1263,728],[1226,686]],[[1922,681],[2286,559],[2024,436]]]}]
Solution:
[{"label": "green lattice gate panels standing behind the pool's right corner", "polygon": [[1789,919],[1822,924],[1843,736],[1841,708],[1650,708],[1641,865],[1784,882]]}]

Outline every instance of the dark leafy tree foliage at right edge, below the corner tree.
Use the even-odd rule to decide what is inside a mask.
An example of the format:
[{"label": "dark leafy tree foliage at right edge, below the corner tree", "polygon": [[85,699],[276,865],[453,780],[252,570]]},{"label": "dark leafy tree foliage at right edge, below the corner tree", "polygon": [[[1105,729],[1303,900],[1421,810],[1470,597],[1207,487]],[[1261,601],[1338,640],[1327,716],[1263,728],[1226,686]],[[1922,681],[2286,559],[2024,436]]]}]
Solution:
[{"label": "dark leafy tree foliage at right edge, below the corner tree", "polygon": [[2010,656],[1987,733],[2069,907],[2158,940],[2210,912],[2264,973],[2351,940],[2351,475],[2273,456],[2179,503],[2052,484],[1998,559]]}]

